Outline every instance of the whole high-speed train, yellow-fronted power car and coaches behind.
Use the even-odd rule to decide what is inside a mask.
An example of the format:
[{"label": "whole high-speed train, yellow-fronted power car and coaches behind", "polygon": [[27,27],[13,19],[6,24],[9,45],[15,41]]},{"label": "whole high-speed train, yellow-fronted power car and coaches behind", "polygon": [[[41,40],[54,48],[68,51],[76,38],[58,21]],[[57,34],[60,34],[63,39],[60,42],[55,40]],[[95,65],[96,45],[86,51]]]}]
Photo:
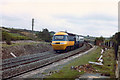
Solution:
[{"label": "whole high-speed train, yellow-fronted power car and coaches behind", "polygon": [[78,47],[81,47],[84,43],[84,38],[80,35],[57,32],[52,39],[52,47],[56,52],[69,51]]}]

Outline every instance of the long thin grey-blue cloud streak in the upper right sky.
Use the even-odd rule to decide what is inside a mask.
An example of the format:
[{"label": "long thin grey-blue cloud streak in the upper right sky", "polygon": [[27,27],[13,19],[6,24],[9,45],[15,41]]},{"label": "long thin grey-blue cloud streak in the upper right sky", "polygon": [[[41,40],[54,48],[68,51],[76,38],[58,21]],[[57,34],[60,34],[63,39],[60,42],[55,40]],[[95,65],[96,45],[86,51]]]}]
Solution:
[{"label": "long thin grey-blue cloud streak in the upper right sky", "polygon": [[56,18],[61,19],[73,19],[73,20],[104,20],[104,21],[116,21],[117,16],[109,16],[107,14],[88,14],[84,16],[73,16],[73,15],[59,15],[55,16]]}]

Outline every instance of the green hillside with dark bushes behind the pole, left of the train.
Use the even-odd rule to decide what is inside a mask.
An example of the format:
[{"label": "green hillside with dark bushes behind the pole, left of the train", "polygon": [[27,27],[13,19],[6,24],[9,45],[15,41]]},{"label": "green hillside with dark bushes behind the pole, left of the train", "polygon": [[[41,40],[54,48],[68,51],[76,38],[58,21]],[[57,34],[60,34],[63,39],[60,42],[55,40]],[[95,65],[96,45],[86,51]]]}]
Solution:
[{"label": "green hillside with dark bushes behind the pole, left of the train", "polygon": [[49,32],[47,28],[42,31],[31,31],[26,29],[14,29],[2,27],[2,40],[16,41],[16,40],[37,40],[51,42],[52,36],[55,34],[54,31]]}]

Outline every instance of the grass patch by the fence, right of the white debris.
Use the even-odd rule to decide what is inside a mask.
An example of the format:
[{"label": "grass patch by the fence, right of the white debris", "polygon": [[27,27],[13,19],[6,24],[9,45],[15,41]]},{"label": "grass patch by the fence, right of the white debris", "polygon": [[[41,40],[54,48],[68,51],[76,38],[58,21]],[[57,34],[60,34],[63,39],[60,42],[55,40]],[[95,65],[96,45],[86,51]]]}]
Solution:
[{"label": "grass patch by the fence, right of the white debris", "polygon": [[99,73],[107,74],[110,75],[111,78],[114,78],[114,65],[115,65],[115,60],[114,60],[114,51],[113,49],[109,49],[105,51],[103,54],[103,66],[96,66],[93,65],[93,67],[98,70]]}]

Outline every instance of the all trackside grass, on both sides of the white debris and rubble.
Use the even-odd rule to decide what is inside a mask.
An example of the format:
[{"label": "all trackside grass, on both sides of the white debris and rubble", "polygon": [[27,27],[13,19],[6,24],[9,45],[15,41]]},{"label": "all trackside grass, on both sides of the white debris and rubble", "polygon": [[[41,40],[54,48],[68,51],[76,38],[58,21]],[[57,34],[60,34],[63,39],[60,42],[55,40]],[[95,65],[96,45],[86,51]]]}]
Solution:
[{"label": "all trackside grass, on both sides of the white debris and rubble", "polygon": [[[63,67],[58,73],[54,73],[50,76],[47,76],[46,78],[77,78],[81,74],[84,74],[85,72],[78,72],[76,70],[71,70],[71,66],[79,66],[88,64],[88,61],[97,61],[97,59],[100,57],[101,48],[98,47],[96,50],[89,52],[89,54],[85,54],[80,58],[75,59],[70,64]],[[98,72],[97,73],[103,73],[110,75],[111,78],[114,78],[114,52],[113,49],[109,49],[105,51],[103,54],[103,66],[98,65],[92,65],[93,68],[95,68]]]}]

